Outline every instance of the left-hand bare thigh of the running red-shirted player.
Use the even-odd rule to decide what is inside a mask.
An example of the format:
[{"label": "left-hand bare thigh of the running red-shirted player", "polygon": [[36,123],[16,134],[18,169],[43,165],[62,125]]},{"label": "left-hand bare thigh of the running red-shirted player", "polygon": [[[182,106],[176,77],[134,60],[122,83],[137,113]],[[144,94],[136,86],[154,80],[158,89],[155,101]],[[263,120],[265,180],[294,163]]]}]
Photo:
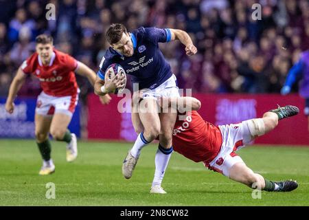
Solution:
[{"label": "left-hand bare thigh of the running red-shirted player", "polygon": [[49,128],[52,123],[52,117],[36,113],[34,116],[35,135],[38,141],[43,141],[47,138]]}]

